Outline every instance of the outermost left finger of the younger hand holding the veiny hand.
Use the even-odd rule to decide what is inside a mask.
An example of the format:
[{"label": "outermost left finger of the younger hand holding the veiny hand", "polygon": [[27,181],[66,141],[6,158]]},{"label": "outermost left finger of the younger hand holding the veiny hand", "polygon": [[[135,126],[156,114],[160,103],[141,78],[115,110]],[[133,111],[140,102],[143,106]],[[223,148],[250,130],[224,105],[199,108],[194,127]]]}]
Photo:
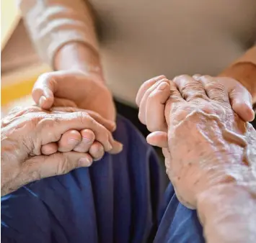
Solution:
[{"label": "outermost left finger of the younger hand holding the veiny hand", "polygon": [[148,90],[144,93],[144,96],[141,99],[141,103],[138,110],[138,119],[141,121],[142,124],[146,124],[146,103],[150,94],[161,84],[161,83],[168,83],[168,79],[164,78],[160,81],[154,83],[153,86],[148,88]]}]

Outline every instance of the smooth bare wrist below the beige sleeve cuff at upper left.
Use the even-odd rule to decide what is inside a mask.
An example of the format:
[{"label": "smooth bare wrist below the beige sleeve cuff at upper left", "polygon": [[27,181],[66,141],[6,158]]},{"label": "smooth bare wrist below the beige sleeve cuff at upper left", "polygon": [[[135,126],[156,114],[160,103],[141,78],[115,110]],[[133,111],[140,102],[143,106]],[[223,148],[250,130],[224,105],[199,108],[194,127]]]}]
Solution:
[{"label": "smooth bare wrist below the beige sleeve cuff at upper left", "polygon": [[76,70],[86,75],[94,75],[104,81],[100,54],[89,45],[70,42],[63,45],[54,58],[56,70]]}]

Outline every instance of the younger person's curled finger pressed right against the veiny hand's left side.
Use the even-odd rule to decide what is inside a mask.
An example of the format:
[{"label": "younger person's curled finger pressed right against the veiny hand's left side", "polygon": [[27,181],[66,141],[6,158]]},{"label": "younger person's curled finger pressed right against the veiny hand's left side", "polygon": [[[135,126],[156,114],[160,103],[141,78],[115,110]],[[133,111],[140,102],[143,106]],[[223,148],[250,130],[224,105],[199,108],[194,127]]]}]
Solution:
[{"label": "younger person's curled finger pressed right against the veiny hand's left side", "polygon": [[170,86],[167,82],[162,82],[149,95],[146,102],[146,127],[150,132],[167,131],[164,108],[169,95]]}]

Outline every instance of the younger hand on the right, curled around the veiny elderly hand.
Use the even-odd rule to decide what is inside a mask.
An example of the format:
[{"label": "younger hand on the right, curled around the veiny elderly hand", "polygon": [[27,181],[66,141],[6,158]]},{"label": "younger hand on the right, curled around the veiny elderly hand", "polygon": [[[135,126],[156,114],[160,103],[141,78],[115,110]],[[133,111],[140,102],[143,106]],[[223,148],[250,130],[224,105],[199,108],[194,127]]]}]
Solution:
[{"label": "younger hand on the right, curled around the veiny elderly hand", "polygon": [[[197,80],[201,79],[203,82],[208,82],[212,79],[221,83],[229,96],[232,109],[244,120],[244,122],[250,122],[254,119],[254,111],[252,110],[252,96],[241,83],[233,78],[225,77],[210,77],[194,75],[193,78]],[[177,88],[182,92],[182,86],[174,79]],[[164,119],[164,104],[169,97],[169,91],[167,88],[167,78],[164,75],[160,75],[156,78],[151,78],[146,81],[138,91],[136,97],[136,104],[139,107],[138,118],[143,124],[146,124],[150,132],[167,131],[167,124]],[[185,88],[193,90],[194,83],[188,82]],[[195,86],[196,88],[196,86]],[[159,95],[159,91],[164,95]],[[187,97],[184,97],[187,100]],[[156,101],[157,100],[157,101]]]}]

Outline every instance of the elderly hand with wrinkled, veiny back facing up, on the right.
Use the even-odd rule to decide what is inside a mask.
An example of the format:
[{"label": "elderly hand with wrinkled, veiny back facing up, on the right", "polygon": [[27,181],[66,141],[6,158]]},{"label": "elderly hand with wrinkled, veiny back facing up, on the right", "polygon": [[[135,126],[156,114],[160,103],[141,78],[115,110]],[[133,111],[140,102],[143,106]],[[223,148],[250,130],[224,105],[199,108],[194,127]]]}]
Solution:
[{"label": "elderly hand with wrinkled, veiny back facing up, on the right", "polygon": [[[181,201],[195,208],[198,193],[212,184],[252,179],[247,152],[256,142],[256,137],[252,137],[255,130],[234,114],[224,86],[214,79],[195,81],[182,75],[175,83],[169,83],[169,90],[165,106],[168,144],[164,146],[164,155],[169,178],[179,191],[185,190],[177,193],[186,195]],[[232,164],[237,174],[224,170]],[[192,174],[187,175],[186,171]]]}]

